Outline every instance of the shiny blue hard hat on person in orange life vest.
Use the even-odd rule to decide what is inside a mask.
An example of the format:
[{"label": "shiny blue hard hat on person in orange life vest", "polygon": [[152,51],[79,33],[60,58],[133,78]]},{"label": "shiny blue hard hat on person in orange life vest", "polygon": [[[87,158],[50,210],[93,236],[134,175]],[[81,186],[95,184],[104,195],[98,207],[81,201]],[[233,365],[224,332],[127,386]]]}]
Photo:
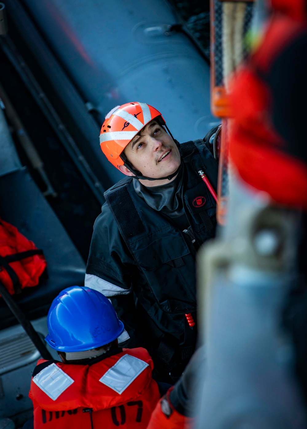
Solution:
[{"label": "shiny blue hard hat on person in orange life vest", "polygon": [[124,330],[111,302],[89,287],[62,290],[48,311],[45,340],[55,350],[77,352],[108,344]]}]

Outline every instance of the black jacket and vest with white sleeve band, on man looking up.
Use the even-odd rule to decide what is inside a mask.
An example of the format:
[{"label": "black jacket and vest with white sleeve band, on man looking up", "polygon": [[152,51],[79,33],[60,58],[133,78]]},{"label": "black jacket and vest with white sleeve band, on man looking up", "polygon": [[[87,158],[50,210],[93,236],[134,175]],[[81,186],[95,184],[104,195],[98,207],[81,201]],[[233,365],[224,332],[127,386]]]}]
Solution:
[{"label": "black jacket and vest with white sleeve band, on man looking up", "polygon": [[[182,372],[193,353],[196,326],[195,257],[215,235],[215,200],[198,174],[203,169],[217,188],[218,166],[203,140],[181,145],[184,209],[196,242],[172,219],[151,208],[126,177],[105,193],[95,221],[86,286],[110,297],[128,332],[128,347],[147,347],[155,365]],[[193,238],[193,237],[192,237]],[[132,293],[133,292],[133,293]],[[121,339],[121,338],[120,338]]]}]

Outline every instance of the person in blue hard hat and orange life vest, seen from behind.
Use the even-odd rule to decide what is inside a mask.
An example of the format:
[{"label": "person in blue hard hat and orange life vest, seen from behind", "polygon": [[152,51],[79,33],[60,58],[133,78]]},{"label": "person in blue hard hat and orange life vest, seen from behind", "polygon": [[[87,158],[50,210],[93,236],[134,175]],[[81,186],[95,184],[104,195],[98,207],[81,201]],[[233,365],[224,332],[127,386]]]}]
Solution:
[{"label": "person in blue hard hat and orange life vest, seen from behind", "polygon": [[146,428],[160,399],[154,365],[144,348],[118,347],[124,327],[111,302],[68,287],[53,300],[47,325],[46,341],[61,361],[41,359],[34,369],[34,428]]}]

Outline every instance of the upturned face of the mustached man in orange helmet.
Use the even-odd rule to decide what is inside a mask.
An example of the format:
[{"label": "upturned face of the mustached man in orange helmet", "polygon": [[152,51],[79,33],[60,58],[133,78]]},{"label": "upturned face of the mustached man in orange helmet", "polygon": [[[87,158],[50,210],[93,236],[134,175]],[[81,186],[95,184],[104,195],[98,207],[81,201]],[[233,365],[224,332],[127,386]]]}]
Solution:
[{"label": "upturned face of the mustached man in orange helmet", "polygon": [[155,120],[150,121],[140,134],[131,140],[124,151],[132,166],[150,178],[174,173],[180,166],[181,159],[172,137]]}]

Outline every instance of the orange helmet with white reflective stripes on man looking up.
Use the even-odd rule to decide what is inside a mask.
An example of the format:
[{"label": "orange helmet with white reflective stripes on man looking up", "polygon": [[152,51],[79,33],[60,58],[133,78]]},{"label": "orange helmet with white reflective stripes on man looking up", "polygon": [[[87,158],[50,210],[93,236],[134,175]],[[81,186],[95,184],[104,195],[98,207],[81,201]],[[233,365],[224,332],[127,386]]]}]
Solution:
[{"label": "orange helmet with white reflective stripes on man looking up", "polygon": [[126,103],[116,106],[105,117],[100,131],[100,147],[107,159],[118,168],[124,165],[120,154],[148,122],[161,113],[146,103]]}]

